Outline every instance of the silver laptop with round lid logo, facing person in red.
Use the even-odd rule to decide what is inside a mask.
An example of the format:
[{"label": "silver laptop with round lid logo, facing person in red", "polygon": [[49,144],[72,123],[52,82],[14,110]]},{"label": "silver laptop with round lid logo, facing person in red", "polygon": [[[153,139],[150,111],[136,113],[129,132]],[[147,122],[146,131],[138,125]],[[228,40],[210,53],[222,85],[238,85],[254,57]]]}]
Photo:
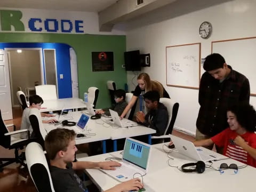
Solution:
[{"label": "silver laptop with round lid logo, facing person in red", "polygon": [[195,159],[196,161],[211,161],[213,159],[219,159],[220,156],[218,154],[210,154],[207,153],[207,149],[203,147],[195,147],[193,142],[188,140],[175,137],[174,135],[170,135],[171,140],[175,146],[175,149],[179,151],[180,154],[183,154],[191,159]]}]

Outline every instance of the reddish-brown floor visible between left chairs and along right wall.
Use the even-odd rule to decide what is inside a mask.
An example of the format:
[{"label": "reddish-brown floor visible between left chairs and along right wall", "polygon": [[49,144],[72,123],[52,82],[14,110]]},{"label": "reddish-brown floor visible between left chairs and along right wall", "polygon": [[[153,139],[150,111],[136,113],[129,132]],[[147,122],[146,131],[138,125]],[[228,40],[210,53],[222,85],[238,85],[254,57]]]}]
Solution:
[{"label": "reddish-brown floor visible between left chairs and along right wall", "polygon": [[[20,129],[22,110],[20,108],[13,108],[13,120],[5,121],[5,124],[15,124],[16,129]],[[12,127],[10,128],[12,130]],[[173,135],[193,141],[194,137],[186,135],[184,133],[173,130]],[[1,157],[13,157],[14,151],[8,150],[0,146]],[[19,164],[11,164],[4,168],[4,171],[0,173],[0,192],[32,192],[36,191],[33,181],[30,179],[28,171],[19,169]]]}]

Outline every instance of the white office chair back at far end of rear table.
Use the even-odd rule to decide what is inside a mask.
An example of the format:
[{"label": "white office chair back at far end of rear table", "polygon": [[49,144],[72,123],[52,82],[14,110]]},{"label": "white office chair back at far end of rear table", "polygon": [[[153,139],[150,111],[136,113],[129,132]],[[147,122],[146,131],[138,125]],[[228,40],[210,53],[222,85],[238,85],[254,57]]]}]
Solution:
[{"label": "white office chair back at far end of rear table", "polygon": [[36,94],[45,100],[57,99],[56,85],[35,86]]}]

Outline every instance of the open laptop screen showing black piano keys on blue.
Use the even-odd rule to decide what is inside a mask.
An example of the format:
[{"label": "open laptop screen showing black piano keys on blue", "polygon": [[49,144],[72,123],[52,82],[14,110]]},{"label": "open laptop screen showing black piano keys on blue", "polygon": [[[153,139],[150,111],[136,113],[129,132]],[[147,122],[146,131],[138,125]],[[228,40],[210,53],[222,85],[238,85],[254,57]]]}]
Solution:
[{"label": "open laptop screen showing black piano keys on blue", "polygon": [[150,147],[134,140],[126,139],[123,159],[134,165],[147,169]]}]

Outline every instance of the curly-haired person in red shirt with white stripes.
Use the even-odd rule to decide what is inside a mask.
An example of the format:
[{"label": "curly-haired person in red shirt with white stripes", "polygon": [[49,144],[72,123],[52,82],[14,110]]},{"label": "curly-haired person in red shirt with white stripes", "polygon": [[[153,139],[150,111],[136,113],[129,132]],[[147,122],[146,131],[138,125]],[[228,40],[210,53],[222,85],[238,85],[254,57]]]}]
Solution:
[{"label": "curly-haired person in red shirt with white stripes", "polygon": [[238,104],[227,110],[229,127],[210,139],[194,141],[195,146],[223,147],[223,155],[256,167],[256,111],[247,104]]}]

